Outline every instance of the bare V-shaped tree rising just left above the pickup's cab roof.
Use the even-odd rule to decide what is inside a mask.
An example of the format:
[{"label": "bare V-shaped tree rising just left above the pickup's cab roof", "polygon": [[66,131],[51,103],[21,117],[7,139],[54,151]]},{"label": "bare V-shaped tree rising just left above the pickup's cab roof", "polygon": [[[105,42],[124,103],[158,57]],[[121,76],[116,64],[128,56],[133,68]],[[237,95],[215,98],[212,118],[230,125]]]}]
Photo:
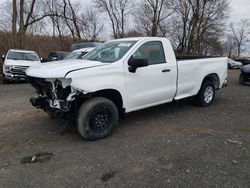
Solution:
[{"label": "bare V-shaped tree rising just left above the pickup's cab roof", "polygon": [[128,15],[131,9],[130,0],[94,0],[95,6],[106,13],[111,22],[114,38],[123,38]]}]

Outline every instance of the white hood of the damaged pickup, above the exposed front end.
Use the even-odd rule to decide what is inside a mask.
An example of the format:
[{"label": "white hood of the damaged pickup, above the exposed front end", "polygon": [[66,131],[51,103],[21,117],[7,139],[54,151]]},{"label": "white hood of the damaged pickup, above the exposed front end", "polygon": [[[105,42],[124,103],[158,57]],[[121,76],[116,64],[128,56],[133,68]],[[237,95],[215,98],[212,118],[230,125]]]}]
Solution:
[{"label": "white hood of the damaged pickup, above the exposed front end", "polygon": [[26,74],[28,76],[37,78],[64,78],[67,73],[72,71],[105,65],[107,64],[99,61],[88,61],[81,59],[56,61],[32,66],[26,70]]}]

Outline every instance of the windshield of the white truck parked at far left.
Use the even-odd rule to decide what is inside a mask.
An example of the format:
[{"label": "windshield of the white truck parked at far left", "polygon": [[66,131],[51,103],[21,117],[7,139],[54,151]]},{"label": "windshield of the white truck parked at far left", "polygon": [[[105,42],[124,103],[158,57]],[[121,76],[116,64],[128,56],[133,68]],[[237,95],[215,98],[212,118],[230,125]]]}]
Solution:
[{"label": "windshield of the white truck parked at far left", "polygon": [[8,53],[7,59],[12,60],[26,60],[26,61],[39,61],[39,58],[36,53],[32,52],[15,52],[10,51]]}]

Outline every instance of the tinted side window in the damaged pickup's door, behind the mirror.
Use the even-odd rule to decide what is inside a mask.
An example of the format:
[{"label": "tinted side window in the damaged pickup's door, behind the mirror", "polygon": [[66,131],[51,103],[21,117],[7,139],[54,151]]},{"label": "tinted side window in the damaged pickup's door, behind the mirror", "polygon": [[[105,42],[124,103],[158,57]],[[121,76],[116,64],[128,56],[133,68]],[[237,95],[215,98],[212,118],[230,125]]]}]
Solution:
[{"label": "tinted side window in the damaged pickup's door, behind the mirror", "polygon": [[143,44],[133,55],[135,59],[147,59],[149,65],[166,63],[164,49],[160,41]]}]

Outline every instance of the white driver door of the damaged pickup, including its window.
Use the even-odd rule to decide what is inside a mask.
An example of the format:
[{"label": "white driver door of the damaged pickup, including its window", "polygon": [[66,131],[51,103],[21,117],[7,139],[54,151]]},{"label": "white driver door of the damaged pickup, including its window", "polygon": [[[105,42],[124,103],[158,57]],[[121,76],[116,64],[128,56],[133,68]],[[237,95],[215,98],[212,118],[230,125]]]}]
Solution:
[{"label": "white driver door of the damaged pickup, including its window", "polygon": [[176,69],[172,69],[166,62],[162,42],[151,41],[142,44],[132,58],[147,59],[148,66],[138,68],[135,73],[129,72],[129,66],[125,68],[127,111],[172,101],[176,92],[177,73]]}]

